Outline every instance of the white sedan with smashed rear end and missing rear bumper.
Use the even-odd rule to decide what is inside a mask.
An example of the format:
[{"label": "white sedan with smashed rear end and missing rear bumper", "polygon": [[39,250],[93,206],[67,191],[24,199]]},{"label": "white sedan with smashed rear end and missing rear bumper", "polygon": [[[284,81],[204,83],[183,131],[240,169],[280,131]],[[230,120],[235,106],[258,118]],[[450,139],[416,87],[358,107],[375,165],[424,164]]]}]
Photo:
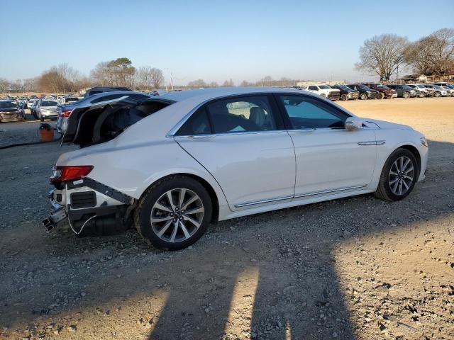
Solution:
[{"label": "white sedan with smashed rear end and missing rear bumper", "polygon": [[306,91],[225,88],[123,96],[75,109],[43,221],[76,234],[135,225],[182,249],[211,222],[374,193],[405,198],[424,179],[426,138],[358,118]]}]

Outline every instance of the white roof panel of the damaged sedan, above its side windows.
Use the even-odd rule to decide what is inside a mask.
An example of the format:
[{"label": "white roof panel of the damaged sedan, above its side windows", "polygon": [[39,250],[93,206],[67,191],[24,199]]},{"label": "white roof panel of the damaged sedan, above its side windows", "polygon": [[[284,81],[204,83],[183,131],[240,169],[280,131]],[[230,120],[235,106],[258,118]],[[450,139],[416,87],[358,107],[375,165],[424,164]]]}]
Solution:
[{"label": "white roof panel of the damaged sedan, above its side windows", "polygon": [[[304,90],[303,90],[304,91]],[[210,99],[216,99],[223,96],[240,96],[250,94],[272,94],[272,93],[292,93],[301,94],[301,90],[297,89],[283,89],[279,87],[217,87],[212,89],[194,89],[187,91],[172,91],[160,96],[154,96],[151,98],[163,98],[170,99],[172,101],[209,101]],[[304,91],[304,94],[308,96],[314,96],[319,98],[317,94],[311,94],[309,91]]]}]

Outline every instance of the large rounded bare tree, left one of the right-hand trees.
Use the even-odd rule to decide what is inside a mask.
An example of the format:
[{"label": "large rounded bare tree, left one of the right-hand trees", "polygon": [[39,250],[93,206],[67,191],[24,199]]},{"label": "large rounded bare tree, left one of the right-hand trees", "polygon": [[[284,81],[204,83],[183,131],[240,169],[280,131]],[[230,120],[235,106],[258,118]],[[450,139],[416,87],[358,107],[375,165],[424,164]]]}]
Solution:
[{"label": "large rounded bare tree, left one of the right-hand trees", "polygon": [[367,39],[360,47],[360,62],[356,69],[380,76],[380,81],[391,79],[397,67],[404,63],[408,39],[393,34],[378,35]]}]

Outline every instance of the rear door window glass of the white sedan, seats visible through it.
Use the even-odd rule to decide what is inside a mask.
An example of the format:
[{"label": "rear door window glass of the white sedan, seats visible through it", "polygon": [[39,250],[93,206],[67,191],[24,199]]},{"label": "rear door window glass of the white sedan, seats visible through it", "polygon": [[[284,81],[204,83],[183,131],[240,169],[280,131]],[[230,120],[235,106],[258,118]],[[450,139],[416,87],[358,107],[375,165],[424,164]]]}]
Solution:
[{"label": "rear door window glass of the white sedan, seats visible through it", "polygon": [[276,118],[267,96],[215,101],[206,110],[213,133],[276,130]]}]

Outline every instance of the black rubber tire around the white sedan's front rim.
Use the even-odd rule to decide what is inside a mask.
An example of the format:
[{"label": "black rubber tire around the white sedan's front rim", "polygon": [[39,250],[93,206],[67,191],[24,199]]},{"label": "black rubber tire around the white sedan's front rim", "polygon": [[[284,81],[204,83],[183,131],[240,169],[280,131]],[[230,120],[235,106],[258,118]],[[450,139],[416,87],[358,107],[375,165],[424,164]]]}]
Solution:
[{"label": "black rubber tire around the white sedan's front rim", "polygon": [[[392,184],[390,184],[390,176],[392,175],[390,174],[390,172],[393,169],[394,162],[401,159],[401,157],[406,157],[411,161],[412,164],[409,164],[409,166],[412,165],[414,167],[414,172],[412,173],[413,181],[411,181],[411,185],[409,186],[408,190],[399,195],[398,193],[394,193],[392,191]],[[416,181],[418,181],[418,178],[419,164],[416,162],[416,157],[414,157],[414,154],[407,149],[397,149],[392,152],[387,161],[384,163],[382,174],[380,175],[380,182],[378,183],[377,191],[375,191],[374,195],[377,198],[381,198],[382,200],[389,200],[391,202],[402,200],[403,198],[406,198],[406,196],[409,196],[409,193],[411,193],[411,191],[413,190]],[[402,186],[402,188],[404,187]]]}]

